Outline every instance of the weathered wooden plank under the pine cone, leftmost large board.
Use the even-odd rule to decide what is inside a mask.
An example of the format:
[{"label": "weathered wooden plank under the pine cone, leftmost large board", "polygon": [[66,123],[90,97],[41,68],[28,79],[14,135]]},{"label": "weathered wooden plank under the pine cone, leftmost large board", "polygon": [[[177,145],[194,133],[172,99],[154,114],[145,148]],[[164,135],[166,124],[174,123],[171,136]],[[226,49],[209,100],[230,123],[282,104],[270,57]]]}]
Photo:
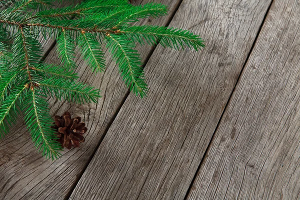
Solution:
[{"label": "weathered wooden plank under the pine cone, leftmost large board", "polygon": [[[136,0],[146,3],[151,0]],[[179,0],[156,0],[169,6],[169,15],[157,20],[145,19],[140,24],[164,25],[175,10]],[[145,59],[151,48],[143,47],[140,53]],[[57,62],[55,49],[46,58]],[[78,105],[51,100],[51,113],[62,114],[69,110],[73,115],[82,116],[87,123],[85,142],[79,149],[65,150],[63,156],[52,162],[45,160],[34,148],[23,122],[0,141],[0,199],[63,199],[82,174],[86,164],[98,146],[107,125],[122,102],[127,87],[118,74],[118,68],[108,56],[104,73],[92,74],[79,56],[75,61],[80,65],[77,72],[80,80],[102,90],[103,96],[97,104]]]}]

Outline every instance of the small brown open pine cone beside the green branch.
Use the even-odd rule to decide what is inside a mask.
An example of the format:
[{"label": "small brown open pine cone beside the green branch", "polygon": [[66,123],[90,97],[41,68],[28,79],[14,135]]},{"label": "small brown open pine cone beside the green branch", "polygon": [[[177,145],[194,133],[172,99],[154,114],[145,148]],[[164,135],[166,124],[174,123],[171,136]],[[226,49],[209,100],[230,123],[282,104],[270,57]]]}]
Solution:
[{"label": "small brown open pine cone beside the green branch", "polygon": [[62,147],[71,149],[72,146],[79,147],[80,142],[84,142],[83,133],[86,132],[84,122],[80,122],[81,117],[71,118],[71,114],[65,111],[62,116],[55,115],[51,128],[57,132],[59,143]]}]

